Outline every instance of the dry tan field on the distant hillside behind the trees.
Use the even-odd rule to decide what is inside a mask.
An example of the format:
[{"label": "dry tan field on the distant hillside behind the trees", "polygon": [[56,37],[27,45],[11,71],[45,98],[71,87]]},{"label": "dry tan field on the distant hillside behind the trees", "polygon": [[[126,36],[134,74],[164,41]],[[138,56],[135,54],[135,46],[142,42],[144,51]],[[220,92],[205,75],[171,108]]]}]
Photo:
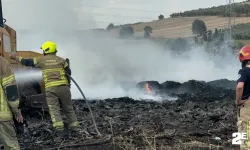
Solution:
[{"label": "dry tan field on the distant hillside behind the trees", "polygon": [[[153,28],[152,37],[161,38],[178,38],[192,36],[191,26],[195,19],[203,20],[208,30],[214,30],[215,28],[224,29],[227,27],[228,18],[218,16],[199,16],[199,17],[179,17],[179,18],[166,18],[163,20],[157,20],[152,22],[145,22],[140,24],[131,25],[133,27],[135,36],[143,36],[144,27],[151,26]],[[237,17],[235,18],[235,24],[250,23],[250,17]],[[111,30],[117,35],[120,28]]]}]

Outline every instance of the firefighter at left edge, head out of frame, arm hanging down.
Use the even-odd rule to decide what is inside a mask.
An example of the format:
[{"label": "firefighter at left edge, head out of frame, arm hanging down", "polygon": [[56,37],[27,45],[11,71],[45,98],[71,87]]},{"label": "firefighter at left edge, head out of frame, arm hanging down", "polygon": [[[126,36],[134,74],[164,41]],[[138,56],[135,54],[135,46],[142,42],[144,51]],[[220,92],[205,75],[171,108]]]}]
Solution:
[{"label": "firefighter at left edge, head out of frame, arm hanging down", "polygon": [[19,93],[10,64],[0,56],[0,148],[20,150],[13,115],[23,123],[19,107]]}]

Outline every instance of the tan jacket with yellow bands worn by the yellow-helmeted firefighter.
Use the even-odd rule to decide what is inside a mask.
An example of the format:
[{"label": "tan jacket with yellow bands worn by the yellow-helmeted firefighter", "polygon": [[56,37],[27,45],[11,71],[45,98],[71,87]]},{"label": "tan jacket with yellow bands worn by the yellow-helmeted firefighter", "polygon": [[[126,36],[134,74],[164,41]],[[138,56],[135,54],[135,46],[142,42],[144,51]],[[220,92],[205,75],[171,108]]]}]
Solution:
[{"label": "tan jacket with yellow bands worn by the yellow-helmeted firefighter", "polygon": [[70,80],[65,73],[71,75],[71,69],[67,61],[59,56],[47,54],[33,59],[16,57],[16,60],[25,66],[41,68],[45,88],[70,84]]}]

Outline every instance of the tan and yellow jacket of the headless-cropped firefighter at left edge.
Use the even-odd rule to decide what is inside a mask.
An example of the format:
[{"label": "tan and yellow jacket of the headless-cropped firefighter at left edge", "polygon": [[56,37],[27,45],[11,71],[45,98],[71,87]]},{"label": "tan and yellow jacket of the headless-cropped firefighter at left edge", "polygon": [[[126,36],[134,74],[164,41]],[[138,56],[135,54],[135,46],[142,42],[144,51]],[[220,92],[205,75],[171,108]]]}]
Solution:
[{"label": "tan and yellow jacket of the headless-cropped firefighter at left edge", "polygon": [[21,112],[18,86],[10,64],[0,56],[0,121],[10,121]]}]

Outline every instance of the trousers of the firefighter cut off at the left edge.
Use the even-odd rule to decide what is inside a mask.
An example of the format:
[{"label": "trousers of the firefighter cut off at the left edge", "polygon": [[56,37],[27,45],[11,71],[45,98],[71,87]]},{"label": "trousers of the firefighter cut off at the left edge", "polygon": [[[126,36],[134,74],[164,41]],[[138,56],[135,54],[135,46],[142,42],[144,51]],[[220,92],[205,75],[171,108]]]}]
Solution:
[{"label": "trousers of the firefighter cut off at the left edge", "polygon": [[4,150],[20,150],[13,121],[0,121],[0,146]]}]

